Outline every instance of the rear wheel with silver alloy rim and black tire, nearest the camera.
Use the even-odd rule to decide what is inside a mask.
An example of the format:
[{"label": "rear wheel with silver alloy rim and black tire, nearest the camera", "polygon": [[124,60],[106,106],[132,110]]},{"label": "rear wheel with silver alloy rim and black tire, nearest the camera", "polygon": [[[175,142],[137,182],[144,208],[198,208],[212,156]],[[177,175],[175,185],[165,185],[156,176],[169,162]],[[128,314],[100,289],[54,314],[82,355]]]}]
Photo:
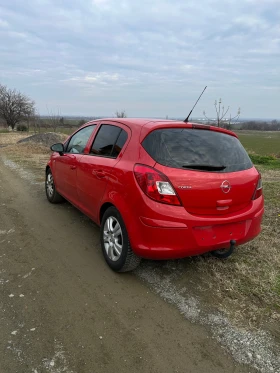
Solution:
[{"label": "rear wheel with silver alloy rim and black tire, nearest the camera", "polygon": [[121,214],[113,206],[102,217],[100,242],[104,258],[113,271],[129,272],[139,265],[141,258],[134,254]]}]

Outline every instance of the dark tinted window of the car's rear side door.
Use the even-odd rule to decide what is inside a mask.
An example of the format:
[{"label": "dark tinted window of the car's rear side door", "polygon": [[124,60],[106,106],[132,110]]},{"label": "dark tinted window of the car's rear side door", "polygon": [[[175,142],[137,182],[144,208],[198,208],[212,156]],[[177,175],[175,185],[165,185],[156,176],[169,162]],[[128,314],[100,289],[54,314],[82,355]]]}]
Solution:
[{"label": "dark tinted window of the car's rear side door", "polygon": [[120,127],[103,124],[92,144],[91,154],[117,158],[127,140],[127,133]]}]

